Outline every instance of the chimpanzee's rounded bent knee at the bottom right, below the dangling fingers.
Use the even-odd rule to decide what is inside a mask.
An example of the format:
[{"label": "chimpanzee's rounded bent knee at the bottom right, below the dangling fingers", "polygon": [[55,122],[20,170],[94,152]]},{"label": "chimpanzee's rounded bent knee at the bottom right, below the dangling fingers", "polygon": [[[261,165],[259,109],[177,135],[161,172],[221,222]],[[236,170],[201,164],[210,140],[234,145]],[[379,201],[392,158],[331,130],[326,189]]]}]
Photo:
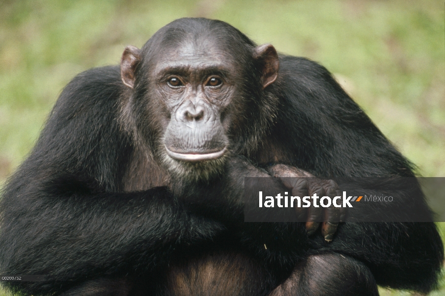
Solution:
[{"label": "chimpanzee's rounded bent knee at the bottom right, below the dangling fingers", "polygon": [[368,267],[340,254],[309,256],[269,296],[378,296]]}]

